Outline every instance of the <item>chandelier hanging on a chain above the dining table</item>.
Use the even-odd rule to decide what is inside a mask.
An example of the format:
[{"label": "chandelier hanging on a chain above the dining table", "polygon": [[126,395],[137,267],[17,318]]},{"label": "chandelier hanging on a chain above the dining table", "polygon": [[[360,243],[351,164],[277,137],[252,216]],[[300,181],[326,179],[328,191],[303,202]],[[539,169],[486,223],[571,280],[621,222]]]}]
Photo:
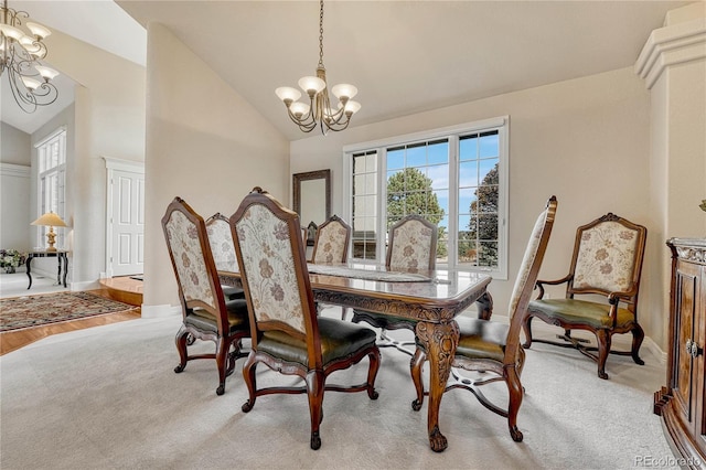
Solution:
[{"label": "chandelier hanging on a chain above the dining table", "polygon": [[361,109],[361,104],[353,102],[357,88],[345,83],[331,88],[331,93],[339,99],[336,109],[331,108],[327,85],[327,70],[323,67],[323,0],[319,14],[319,66],[317,76],[306,76],[299,79],[299,86],[309,95],[309,104],[298,102],[301,92],[288,86],[279,87],[275,94],[285,102],[289,118],[304,132],[311,132],[317,126],[325,136],[329,130],[339,131],[349,127],[351,116]]}]

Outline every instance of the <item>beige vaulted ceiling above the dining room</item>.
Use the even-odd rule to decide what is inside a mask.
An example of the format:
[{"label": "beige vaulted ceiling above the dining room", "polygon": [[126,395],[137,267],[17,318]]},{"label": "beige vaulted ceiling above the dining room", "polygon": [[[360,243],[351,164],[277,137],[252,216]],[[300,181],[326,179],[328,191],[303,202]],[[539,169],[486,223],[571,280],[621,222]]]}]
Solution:
[{"label": "beige vaulted ceiling above the dining room", "polygon": [[[105,49],[114,53],[129,56],[119,52],[124,40],[135,47],[129,44],[133,33],[116,33],[117,21],[105,23],[110,44],[100,39],[101,28],[87,32],[82,25],[92,21],[87,11],[96,6],[90,3],[105,0],[18,3],[25,3],[47,26],[98,46],[108,44]],[[61,4],[61,14],[40,19],[50,3]],[[632,66],[665,13],[686,3],[328,1],[323,58],[331,84],[357,86],[355,99],[363,107],[353,126],[361,126]],[[314,75],[318,1],[120,0],[117,4],[142,26],[167,25],[290,140],[308,137],[289,121],[274,90],[296,87],[301,76]],[[76,32],[82,28],[84,38]],[[129,58],[139,62],[133,53]]]}]

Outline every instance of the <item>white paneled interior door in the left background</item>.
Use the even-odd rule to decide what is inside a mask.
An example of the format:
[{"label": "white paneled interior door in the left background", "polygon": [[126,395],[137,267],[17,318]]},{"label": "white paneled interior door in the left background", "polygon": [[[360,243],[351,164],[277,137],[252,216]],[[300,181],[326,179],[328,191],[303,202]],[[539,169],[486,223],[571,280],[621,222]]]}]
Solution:
[{"label": "white paneled interior door in the left background", "polygon": [[108,276],[141,275],[145,264],[145,171],[109,169]]}]

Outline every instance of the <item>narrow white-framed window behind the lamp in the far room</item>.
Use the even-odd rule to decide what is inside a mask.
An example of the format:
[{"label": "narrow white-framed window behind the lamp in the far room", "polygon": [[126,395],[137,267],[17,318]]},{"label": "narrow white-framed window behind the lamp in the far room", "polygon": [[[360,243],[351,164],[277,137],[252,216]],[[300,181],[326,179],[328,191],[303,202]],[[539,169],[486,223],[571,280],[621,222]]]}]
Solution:
[{"label": "narrow white-framed window behind the lamp in the far room", "polygon": [[[66,220],[66,129],[52,132],[35,145],[36,148],[36,202],[38,216],[54,212]],[[49,227],[40,226],[36,246],[44,246]],[[56,246],[65,247],[64,231],[56,232]]]}]

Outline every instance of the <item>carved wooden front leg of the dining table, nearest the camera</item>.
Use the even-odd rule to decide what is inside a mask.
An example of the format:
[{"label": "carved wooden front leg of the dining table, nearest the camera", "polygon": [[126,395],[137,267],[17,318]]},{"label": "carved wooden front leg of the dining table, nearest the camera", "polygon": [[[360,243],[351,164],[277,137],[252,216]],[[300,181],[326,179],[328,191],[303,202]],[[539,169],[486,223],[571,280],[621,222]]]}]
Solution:
[{"label": "carved wooden front leg of the dining table, nearest the camera", "polygon": [[439,429],[439,407],[459,343],[459,325],[456,320],[443,323],[420,321],[417,323],[416,333],[427,350],[429,359],[429,409],[427,415],[429,445],[435,452],[442,452],[448,447],[448,441]]}]

